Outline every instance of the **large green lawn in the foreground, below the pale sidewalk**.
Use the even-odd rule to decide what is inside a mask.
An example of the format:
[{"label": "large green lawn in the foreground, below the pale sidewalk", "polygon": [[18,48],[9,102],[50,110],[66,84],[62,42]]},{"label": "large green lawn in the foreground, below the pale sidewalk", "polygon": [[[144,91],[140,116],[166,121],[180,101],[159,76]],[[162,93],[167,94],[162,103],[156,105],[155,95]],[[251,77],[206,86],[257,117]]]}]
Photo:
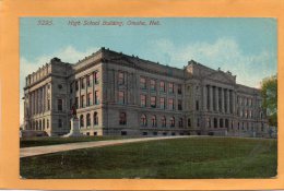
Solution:
[{"label": "large green lawn in the foreground, below the pale sidewalk", "polygon": [[21,158],[23,178],[270,178],[276,140],[185,138]]}]

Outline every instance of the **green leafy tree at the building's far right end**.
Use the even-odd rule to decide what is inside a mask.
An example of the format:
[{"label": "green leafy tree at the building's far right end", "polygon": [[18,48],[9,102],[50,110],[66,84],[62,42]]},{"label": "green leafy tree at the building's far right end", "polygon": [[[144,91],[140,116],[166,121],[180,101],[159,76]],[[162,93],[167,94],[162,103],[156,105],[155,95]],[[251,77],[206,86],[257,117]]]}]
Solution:
[{"label": "green leafy tree at the building's far right end", "polygon": [[269,124],[277,127],[277,75],[265,77],[261,82],[262,108],[267,110]]}]

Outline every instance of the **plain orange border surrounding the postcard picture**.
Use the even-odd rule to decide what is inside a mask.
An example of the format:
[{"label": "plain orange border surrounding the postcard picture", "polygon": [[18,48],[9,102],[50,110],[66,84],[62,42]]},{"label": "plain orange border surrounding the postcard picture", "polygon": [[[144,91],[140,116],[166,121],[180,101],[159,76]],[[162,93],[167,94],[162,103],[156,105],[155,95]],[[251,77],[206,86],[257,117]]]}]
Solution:
[{"label": "plain orange border surrounding the postcard picture", "polygon": [[0,1],[0,189],[40,190],[267,190],[284,189],[283,130],[279,175],[272,179],[20,179],[19,21],[24,16],[275,17],[279,127],[283,124],[283,0],[2,0]]}]

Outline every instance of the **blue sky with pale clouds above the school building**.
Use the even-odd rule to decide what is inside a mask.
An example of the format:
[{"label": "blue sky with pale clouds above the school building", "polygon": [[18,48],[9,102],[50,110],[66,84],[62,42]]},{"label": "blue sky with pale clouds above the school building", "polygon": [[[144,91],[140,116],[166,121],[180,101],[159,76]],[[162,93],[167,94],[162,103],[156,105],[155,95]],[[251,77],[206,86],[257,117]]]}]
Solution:
[{"label": "blue sky with pale clouds above the school building", "polygon": [[[145,25],[133,25],[139,22]],[[263,77],[277,72],[276,35],[275,19],[22,17],[20,122],[25,76],[54,57],[75,63],[106,47],[180,69],[196,60],[260,87]]]}]

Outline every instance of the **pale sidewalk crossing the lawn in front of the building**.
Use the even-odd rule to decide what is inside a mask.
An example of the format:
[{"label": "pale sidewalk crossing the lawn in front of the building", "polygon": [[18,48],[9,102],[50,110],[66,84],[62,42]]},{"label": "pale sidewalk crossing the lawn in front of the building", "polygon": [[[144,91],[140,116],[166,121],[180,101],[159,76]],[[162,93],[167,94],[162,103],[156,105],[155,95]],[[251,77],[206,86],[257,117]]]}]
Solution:
[{"label": "pale sidewalk crossing the lawn in front of the building", "polygon": [[[49,153],[80,150],[80,148],[100,147],[100,146],[118,145],[125,143],[135,143],[135,142],[145,142],[145,141],[154,141],[154,140],[170,140],[170,139],[181,139],[181,138],[189,138],[189,136],[182,135],[182,136],[138,138],[138,139],[127,139],[127,140],[108,140],[108,141],[94,141],[94,142],[67,143],[67,144],[47,145],[47,146],[23,147],[20,148],[20,158],[44,155]],[[192,138],[192,135],[190,138]]]}]

